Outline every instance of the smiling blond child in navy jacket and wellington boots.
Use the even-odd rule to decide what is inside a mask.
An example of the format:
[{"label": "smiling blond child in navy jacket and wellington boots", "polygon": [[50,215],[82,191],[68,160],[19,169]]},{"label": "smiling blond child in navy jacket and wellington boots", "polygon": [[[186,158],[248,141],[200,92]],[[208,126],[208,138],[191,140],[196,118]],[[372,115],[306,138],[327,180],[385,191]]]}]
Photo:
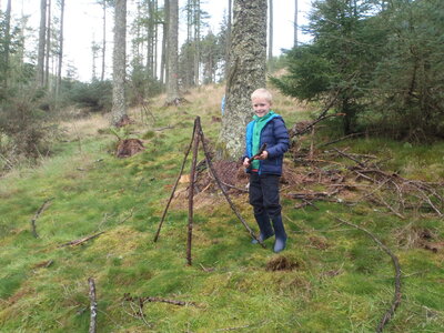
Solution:
[{"label": "smiling blond child in navy jacket and wellington boots", "polygon": [[[243,165],[250,173],[250,204],[260,229],[259,239],[264,241],[275,234],[273,250],[278,253],[284,250],[286,244],[279,200],[279,179],[290,138],[282,117],[270,110],[272,95],[266,89],[255,90],[251,94],[251,101],[255,115],[246,125],[243,157]],[[266,149],[249,163],[249,159],[258,154],[263,143],[266,143]],[[258,241],[253,240],[252,243]]]}]

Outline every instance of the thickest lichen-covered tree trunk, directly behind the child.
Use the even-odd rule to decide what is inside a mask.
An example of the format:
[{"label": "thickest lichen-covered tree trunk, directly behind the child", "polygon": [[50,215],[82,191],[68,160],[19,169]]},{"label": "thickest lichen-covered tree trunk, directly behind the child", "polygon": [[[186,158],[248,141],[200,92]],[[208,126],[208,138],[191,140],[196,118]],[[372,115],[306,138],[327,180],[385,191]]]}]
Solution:
[{"label": "thickest lichen-covered tree trunk, directly behind the child", "polygon": [[219,140],[231,158],[243,154],[253,114],[251,93],[265,87],[266,0],[234,0],[225,112]]}]

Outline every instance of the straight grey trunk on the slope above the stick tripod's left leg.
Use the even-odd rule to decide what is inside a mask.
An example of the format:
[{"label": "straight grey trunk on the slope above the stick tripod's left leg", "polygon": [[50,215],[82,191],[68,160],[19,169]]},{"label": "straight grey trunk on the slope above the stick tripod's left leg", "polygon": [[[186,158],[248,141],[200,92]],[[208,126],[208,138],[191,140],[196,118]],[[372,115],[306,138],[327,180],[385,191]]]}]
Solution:
[{"label": "straight grey trunk on the slope above the stick tripod's left leg", "polygon": [[179,3],[178,0],[170,0],[169,2],[167,104],[178,103],[180,100],[178,82]]}]

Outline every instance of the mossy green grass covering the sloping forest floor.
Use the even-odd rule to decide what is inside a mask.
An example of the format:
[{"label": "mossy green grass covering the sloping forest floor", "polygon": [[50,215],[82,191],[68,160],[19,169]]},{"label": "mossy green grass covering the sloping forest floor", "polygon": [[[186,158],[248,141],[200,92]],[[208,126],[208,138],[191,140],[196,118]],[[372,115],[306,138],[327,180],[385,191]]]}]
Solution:
[{"label": "mossy green grass covering the sloping forest floor", "polygon": [[[265,242],[268,249],[250,244],[230,206],[214,194],[194,212],[192,266],[185,259],[186,204],[178,199],[159,241],[152,242],[193,120],[201,117],[205,137],[214,142],[220,123],[212,117],[220,117],[222,94],[213,85],[192,91],[190,103],[178,109],[154,103],[155,124],[140,123],[139,111],[132,110],[138,121],[132,135],[147,147],[132,158],[110,154],[115,137],[103,131],[105,120],[93,117],[71,123],[65,142],[39,168],[0,179],[1,332],[85,332],[90,276],[98,290],[99,332],[373,332],[393,297],[391,260],[367,235],[332,215],[370,230],[400,259],[403,299],[387,331],[442,332],[443,250],[427,251],[414,239],[417,230],[427,229],[434,242],[443,242],[443,221],[431,213],[401,220],[366,202],[295,210],[283,193],[290,239],[287,249],[274,254],[273,240]],[[310,118],[306,105],[279,94],[275,109],[289,128]],[[167,125],[174,129],[157,130]],[[406,178],[442,180],[442,143],[359,139],[336,147],[391,157],[386,170]],[[50,198],[34,239],[30,220]],[[246,196],[233,201],[256,230]],[[60,248],[99,231],[104,233],[83,245]],[[282,258],[292,270],[271,270]],[[124,301],[127,293],[196,306],[145,303],[142,319],[138,305]]]}]

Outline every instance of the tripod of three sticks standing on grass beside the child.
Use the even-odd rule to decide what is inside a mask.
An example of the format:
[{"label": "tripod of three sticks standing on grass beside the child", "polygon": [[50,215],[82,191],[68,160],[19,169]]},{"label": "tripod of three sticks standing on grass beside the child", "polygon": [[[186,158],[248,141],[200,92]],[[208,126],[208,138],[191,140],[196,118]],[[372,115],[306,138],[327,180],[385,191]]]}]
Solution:
[{"label": "tripod of three sticks standing on grass beside the child", "polygon": [[193,202],[194,202],[194,175],[195,175],[195,167],[196,167],[196,161],[198,161],[198,150],[199,150],[199,142],[202,143],[203,152],[205,154],[205,161],[206,165],[209,167],[209,170],[211,174],[213,175],[215,182],[218,183],[219,189],[222,191],[223,195],[225,196],[228,203],[230,204],[231,210],[234,212],[234,214],[238,216],[238,219],[241,221],[243,226],[246,229],[246,231],[250,233],[250,235],[258,241],[259,244],[262,245],[262,248],[265,248],[264,243],[256,238],[254,232],[251,230],[251,228],[246,224],[245,220],[242,218],[242,215],[239,213],[238,209],[235,208],[234,203],[231,201],[229,194],[226,193],[226,190],[222,186],[222,182],[220,181],[218,174],[215,173],[215,170],[213,168],[213,164],[210,159],[209,150],[206,148],[206,143],[204,140],[202,127],[201,127],[201,119],[200,117],[196,117],[194,120],[194,128],[193,128],[193,134],[191,138],[190,145],[186,149],[185,157],[183,158],[182,167],[179,172],[178,179],[175,180],[173,190],[171,191],[170,199],[167,203],[167,206],[163,211],[162,219],[160,220],[158,231],[154,236],[154,242],[158,241],[160,230],[162,229],[163,221],[165,220],[168,209],[170,208],[170,203],[174,196],[174,192],[178,188],[179,180],[182,176],[183,169],[186,162],[186,158],[190,154],[191,149],[193,149],[193,157],[192,157],[192,163],[191,163],[191,170],[190,170],[190,185],[189,185],[189,210],[188,210],[188,240],[186,240],[186,262],[189,265],[192,264],[192,259],[191,259],[191,243],[192,243],[192,235],[193,235]]}]

